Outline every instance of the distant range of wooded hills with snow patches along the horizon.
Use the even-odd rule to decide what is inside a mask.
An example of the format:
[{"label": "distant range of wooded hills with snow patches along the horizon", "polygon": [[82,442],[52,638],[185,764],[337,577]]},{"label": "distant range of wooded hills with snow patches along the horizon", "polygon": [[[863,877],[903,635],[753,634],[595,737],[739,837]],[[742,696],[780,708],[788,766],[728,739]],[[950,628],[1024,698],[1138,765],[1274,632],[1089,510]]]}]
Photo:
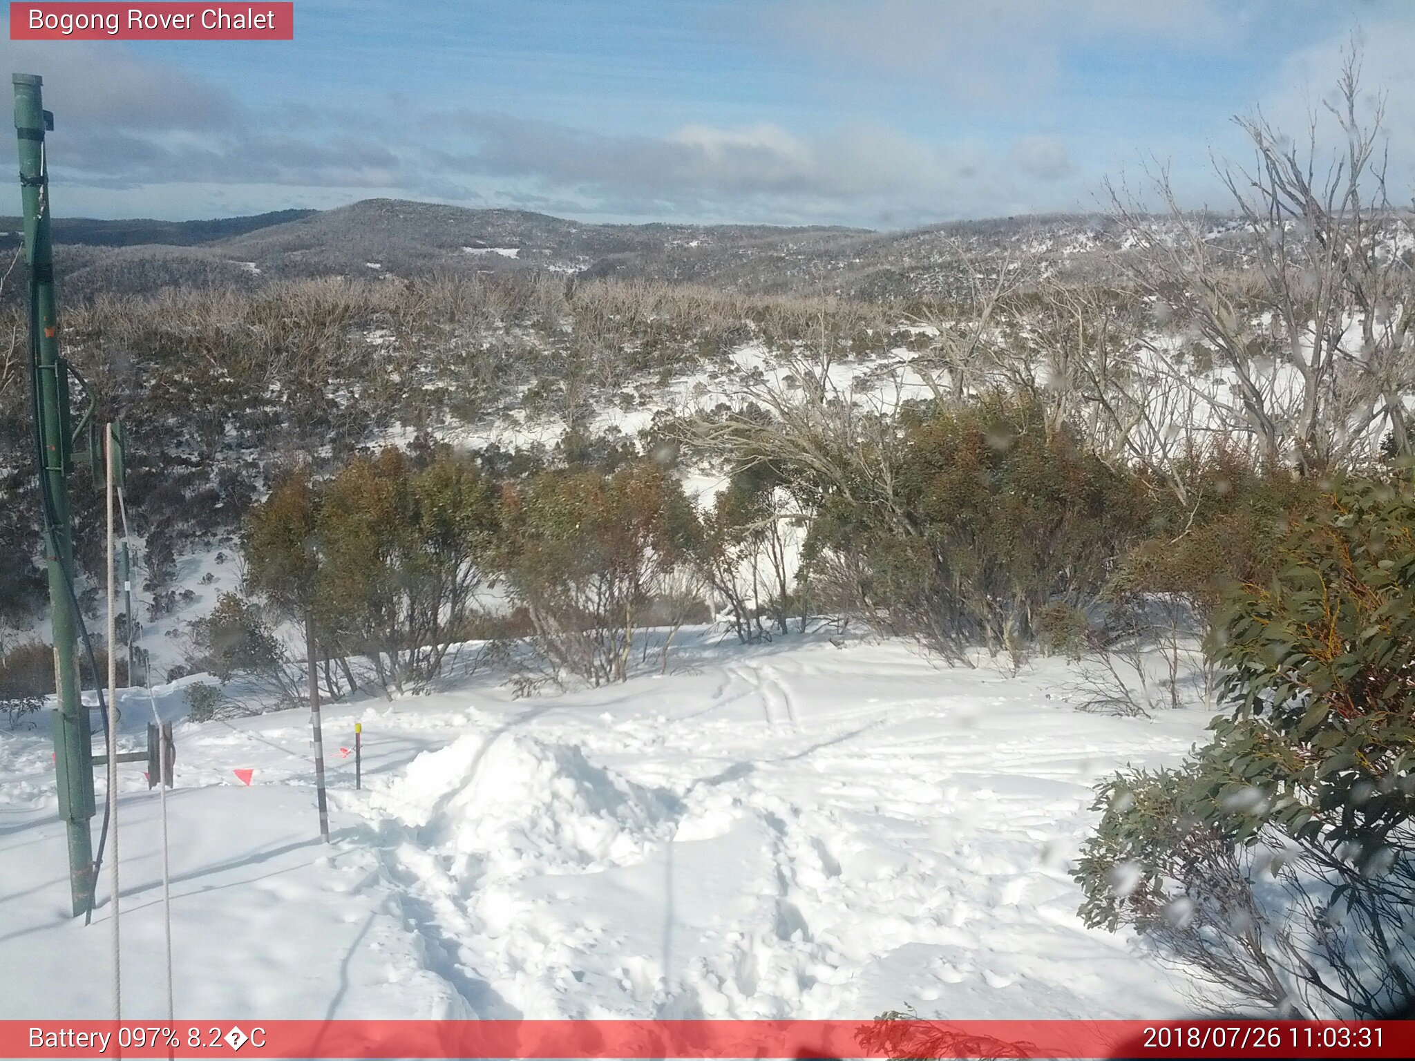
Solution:
[{"label": "distant range of wooded hills with snow patches along the horizon", "polygon": [[[214,221],[54,222],[61,298],[171,286],[255,287],[270,280],[541,270],[699,283],[743,293],[867,300],[951,296],[971,269],[1041,253],[1085,274],[1114,240],[1101,216],[969,221],[911,232],[841,226],[597,225],[516,209],[364,199]],[[0,252],[18,219],[0,218]],[[962,266],[957,248],[968,250]],[[6,297],[16,297],[14,287]]]}]

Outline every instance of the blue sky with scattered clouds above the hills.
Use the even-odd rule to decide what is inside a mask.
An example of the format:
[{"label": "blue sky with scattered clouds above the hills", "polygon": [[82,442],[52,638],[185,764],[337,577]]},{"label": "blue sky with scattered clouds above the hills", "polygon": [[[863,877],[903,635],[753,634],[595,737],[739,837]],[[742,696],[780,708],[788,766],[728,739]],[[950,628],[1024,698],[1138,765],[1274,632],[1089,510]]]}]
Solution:
[{"label": "blue sky with scattered clouds above the hills", "polygon": [[57,115],[55,214],[396,197],[903,229],[1095,211],[1160,168],[1223,209],[1231,119],[1305,139],[1353,45],[1399,198],[1415,174],[1402,0],[296,0],[294,27],[0,41]]}]

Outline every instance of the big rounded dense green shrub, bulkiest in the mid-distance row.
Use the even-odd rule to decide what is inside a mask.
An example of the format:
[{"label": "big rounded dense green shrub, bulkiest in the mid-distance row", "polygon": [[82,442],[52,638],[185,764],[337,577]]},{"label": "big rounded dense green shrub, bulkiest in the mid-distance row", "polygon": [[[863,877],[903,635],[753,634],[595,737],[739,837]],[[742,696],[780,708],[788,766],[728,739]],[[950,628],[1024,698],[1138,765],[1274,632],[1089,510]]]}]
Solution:
[{"label": "big rounded dense green shrub, bulkiest in the mid-distance row", "polygon": [[1022,651],[1043,608],[1090,604],[1143,533],[1139,477],[1023,399],[925,410],[889,463],[887,499],[824,497],[808,556],[862,557],[866,610],[940,651]]}]

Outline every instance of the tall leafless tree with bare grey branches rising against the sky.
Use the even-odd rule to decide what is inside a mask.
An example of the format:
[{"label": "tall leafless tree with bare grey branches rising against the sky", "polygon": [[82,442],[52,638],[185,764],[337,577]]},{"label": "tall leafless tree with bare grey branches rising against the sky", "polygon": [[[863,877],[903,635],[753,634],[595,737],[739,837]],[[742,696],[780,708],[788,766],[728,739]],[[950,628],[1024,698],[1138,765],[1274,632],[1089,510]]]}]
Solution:
[{"label": "tall leafless tree with bare grey branches rising against the sky", "polygon": [[1387,185],[1384,98],[1367,100],[1353,54],[1305,137],[1238,119],[1252,157],[1217,164],[1224,232],[1182,209],[1163,170],[1146,190],[1160,219],[1111,190],[1115,262],[1153,315],[1146,372],[1189,392],[1210,430],[1305,474],[1368,461],[1385,439],[1411,448],[1412,214]]}]

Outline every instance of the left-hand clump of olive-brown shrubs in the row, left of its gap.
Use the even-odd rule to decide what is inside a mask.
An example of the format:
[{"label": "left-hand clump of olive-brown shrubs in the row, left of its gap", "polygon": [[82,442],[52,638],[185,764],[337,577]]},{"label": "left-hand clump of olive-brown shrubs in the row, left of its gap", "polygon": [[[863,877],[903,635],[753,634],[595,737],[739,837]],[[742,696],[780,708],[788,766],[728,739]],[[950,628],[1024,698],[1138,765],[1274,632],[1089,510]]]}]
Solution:
[{"label": "left-hand clump of olive-brown shrubs in the row, left of its gap", "polygon": [[464,642],[522,637],[524,680],[624,680],[647,627],[669,628],[662,668],[671,630],[708,618],[702,540],[678,480],[644,457],[499,481],[446,447],[388,448],[324,480],[300,468],[249,514],[250,596],[194,624],[191,666],[293,700],[299,666],[275,634],[289,621],[331,696],[365,669],[389,695],[420,690]]}]

